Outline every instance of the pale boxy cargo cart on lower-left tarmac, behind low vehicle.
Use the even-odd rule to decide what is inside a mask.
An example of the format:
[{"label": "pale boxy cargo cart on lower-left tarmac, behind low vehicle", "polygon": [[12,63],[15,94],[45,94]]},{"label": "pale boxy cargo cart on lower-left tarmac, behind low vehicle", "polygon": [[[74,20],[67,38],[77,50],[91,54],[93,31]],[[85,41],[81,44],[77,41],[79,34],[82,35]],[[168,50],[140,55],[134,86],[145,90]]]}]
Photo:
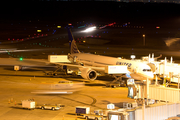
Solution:
[{"label": "pale boxy cargo cart on lower-left tarmac, behind low vehicle", "polygon": [[35,109],[35,101],[34,100],[23,100],[22,108]]}]

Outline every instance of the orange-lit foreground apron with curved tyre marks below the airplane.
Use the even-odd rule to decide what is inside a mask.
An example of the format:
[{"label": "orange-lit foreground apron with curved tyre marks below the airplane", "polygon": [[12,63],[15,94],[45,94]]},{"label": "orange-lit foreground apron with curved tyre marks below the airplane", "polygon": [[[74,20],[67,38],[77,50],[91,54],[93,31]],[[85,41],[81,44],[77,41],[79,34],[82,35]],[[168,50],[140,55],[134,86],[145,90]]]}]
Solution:
[{"label": "orange-lit foreground apron with curved tyre marks below the airplane", "polygon": [[[105,83],[110,77],[94,82],[84,81],[81,77],[53,78],[47,77],[41,70],[14,71],[12,67],[0,67],[0,119],[1,120],[75,120],[83,119],[76,116],[76,106],[88,106],[91,111],[107,109],[107,104],[113,103],[116,109],[122,108],[123,102],[133,102],[127,98],[128,88],[106,88]],[[104,79],[104,81],[102,80]],[[73,81],[74,84],[84,83],[73,94],[32,94],[34,90],[42,90],[43,83],[50,86],[58,81]],[[43,88],[44,89],[44,88]],[[49,89],[48,89],[49,90]],[[63,104],[63,109],[52,111],[22,108],[21,101],[34,99],[36,104]]]}]

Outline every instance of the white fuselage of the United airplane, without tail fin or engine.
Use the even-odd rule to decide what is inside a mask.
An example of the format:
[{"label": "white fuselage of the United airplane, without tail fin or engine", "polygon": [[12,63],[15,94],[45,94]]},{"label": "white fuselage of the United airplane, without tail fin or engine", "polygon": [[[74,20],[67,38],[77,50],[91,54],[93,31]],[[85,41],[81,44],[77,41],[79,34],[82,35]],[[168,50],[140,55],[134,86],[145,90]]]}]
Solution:
[{"label": "white fuselage of the United airplane, without tail fin or engine", "polygon": [[119,59],[115,57],[100,56],[87,53],[74,53],[69,56],[69,60],[84,66],[105,67],[108,65],[126,65],[131,77],[134,79],[144,80],[152,79],[153,72],[150,66],[142,61]]}]

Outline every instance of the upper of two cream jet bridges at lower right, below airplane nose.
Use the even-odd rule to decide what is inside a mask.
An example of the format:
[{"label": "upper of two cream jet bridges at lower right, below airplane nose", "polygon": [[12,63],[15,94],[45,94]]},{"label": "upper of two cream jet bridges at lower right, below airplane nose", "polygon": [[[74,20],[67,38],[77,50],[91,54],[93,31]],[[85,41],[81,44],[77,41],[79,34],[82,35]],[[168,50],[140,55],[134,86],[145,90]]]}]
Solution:
[{"label": "upper of two cream jet bridges at lower right, below airplane nose", "polygon": [[180,89],[164,87],[163,85],[151,84],[149,80],[132,82],[128,80],[128,97],[136,100],[144,99],[166,101],[171,103],[180,102]]}]

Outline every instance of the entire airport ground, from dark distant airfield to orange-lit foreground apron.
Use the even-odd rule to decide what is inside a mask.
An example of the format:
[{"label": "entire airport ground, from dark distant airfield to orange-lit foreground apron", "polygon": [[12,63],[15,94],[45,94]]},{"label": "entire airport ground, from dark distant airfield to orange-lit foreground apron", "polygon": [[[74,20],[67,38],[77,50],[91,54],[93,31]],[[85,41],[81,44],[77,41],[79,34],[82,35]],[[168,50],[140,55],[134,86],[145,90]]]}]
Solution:
[{"label": "entire airport ground, from dark distant airfield to orange-lit foreground apron", "polygon": [[[119,24],[119,26],[121,26]],[[146,30],[146,45],[143,46],[142,34]],[[113,27],[97,30],[90,35],[95,38],[87,37],[86,34],[72,33],[77,41],[77,46],[81,52],[93,53],[105,56],[130,58],[130,55],[136,55],[136,58],[148,56],[154,53],[155,57],[163,54],[162,58],[174,56],[173,61],[179,62],[179,43],[167,47],[163,38],[174,37],[177,31],[174,29],[146,29],[127,27]],[[80,31],[77,30],[77,31]],[[160,31],[162,31],[161,34]],[[169,33],[171,31],[171,33]],[[158,33],[159,32],[159,33]],[[29,34],[29,33],[28,33]],[[46,34],[46,33],[43,33]],[[27,36],[27,35],[26,35]],[[14,37],[14,36],[13,36]],[[32,36],[31,36],[32,37]],[[86,81],[82,77],[46,76],[49,69],[27,69],[23,71],[14,71],[13,65],[35,65],[44,66],[41,61],[47,61],[48,55],[67,55],[69,53],[68,36],[66,29],[57,30],[53,35],[31,38],[29,40],[19,41],[2,40],[0,48],[16,48],[16,50],[27,50],[26,52],[8,51],[0,53],[0,64],[9,66],[0,67],[0,119],[1,120],[80,120],[82,116],[76,116],[76,106],[89,106],[91,111],[95,109],[107,109],[107,104],[115,104],[115,109],[122,108],[123,102],[133,102],[133,99],[127,97],[128,88],[106,88],[105,84],[113,79],[104,76],[98,77],[94,82]],[[86,40],[87,43],[83,43]],[[79,42],[80,41],[80,42]],[[98,41],[98,42],[97,42]],[[106,43],[107,41],[110,41]],[[95,44],[96,43],[96,44]],[[97,44],[98,43],[98,44]],[[101,44],[102,43],[102,44]],[[175,49],[178,48],[178,49]],[[23,57],[23,61],[19,58]],[[34,60],[38,59],[38,60]],[[158,59],[159,60],[159,59]],[[37,62],[38,61],[38,62]],[[33,94],[36,90],[50,90],[51,83],[58,81],[73,81],[74,84],[84,84],[84,86],[73,90],[73,94]],[[49,83],[49,84],[44,84]],[[37,104],[63,104],[64,109],[52,110],[27,110],[21,105],[22,100],[34,99]]]}]

